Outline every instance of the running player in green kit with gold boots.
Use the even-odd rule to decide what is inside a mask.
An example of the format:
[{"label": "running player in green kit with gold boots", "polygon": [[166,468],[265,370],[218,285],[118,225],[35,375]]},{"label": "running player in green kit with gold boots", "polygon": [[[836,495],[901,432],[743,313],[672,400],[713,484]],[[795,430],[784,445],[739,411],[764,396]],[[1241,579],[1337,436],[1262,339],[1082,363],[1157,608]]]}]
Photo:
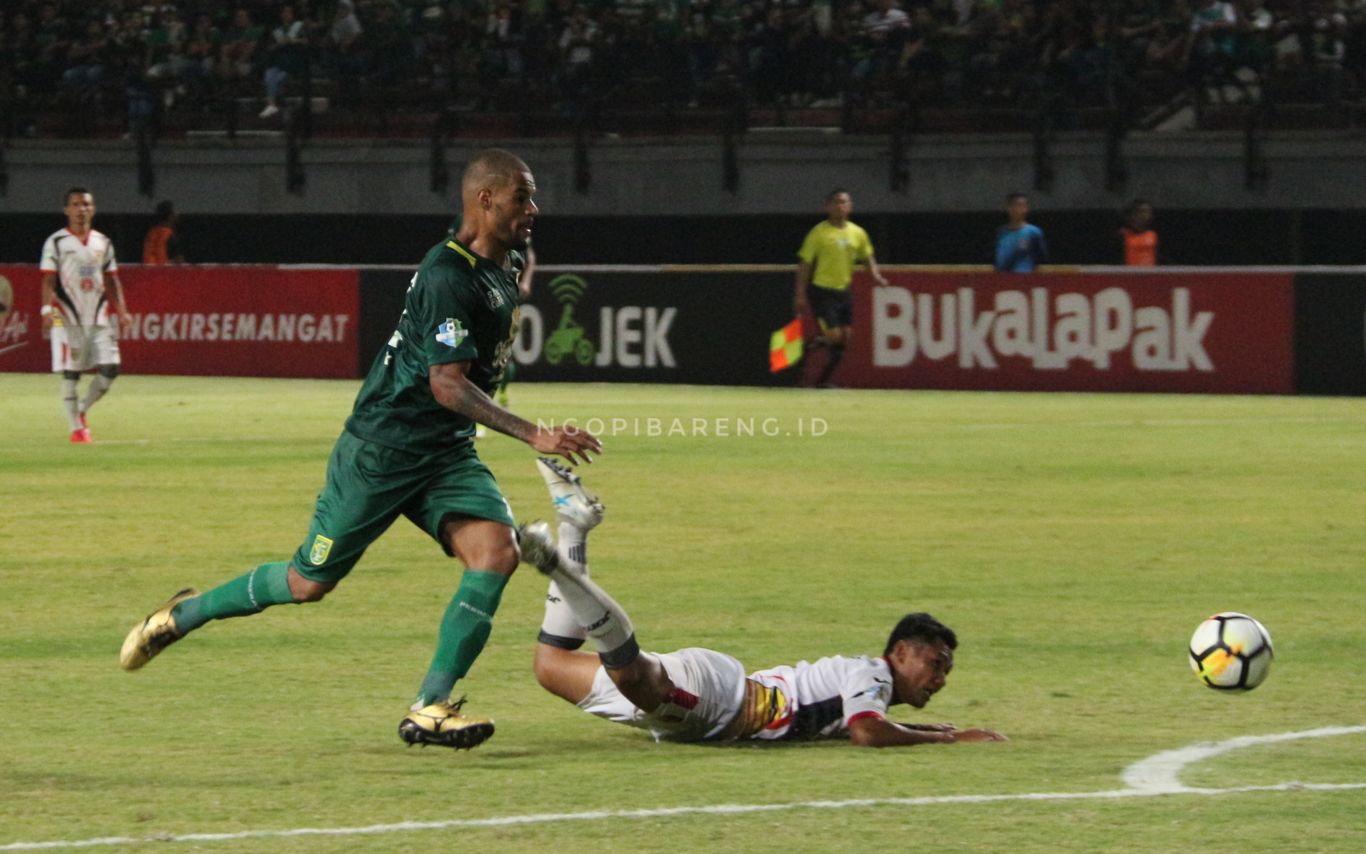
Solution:
[{"label": "running player in green kit with gold boots", "polygon": [[571,462],[602,451],[587,432],[537,426],[489,398],[518,332],[516,283],[537,215],[534,194],[531,171],[514,154],[489,149],[470,161],[460,230],[413,276],[398,329],[328,460],[307,537],[288,562],[258,566],[202,594],[176,593],[128,633],[119,655],[124,670],[141,668],[209,620],[321,600],[404,515],[466,570],[399,735],[410,745],[474,747],[493,734],[492,720],[462,715],[463,698],[451,701],[455,682],[484,649],[520,556],[512,512],[474,452],[474,426]]}]

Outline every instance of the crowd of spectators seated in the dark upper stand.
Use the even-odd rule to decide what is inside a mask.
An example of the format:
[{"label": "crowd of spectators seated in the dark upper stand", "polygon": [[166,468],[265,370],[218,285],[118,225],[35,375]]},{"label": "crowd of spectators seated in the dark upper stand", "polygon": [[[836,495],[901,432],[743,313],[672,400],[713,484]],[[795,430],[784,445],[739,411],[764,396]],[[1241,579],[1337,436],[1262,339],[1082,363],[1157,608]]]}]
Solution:
[{"label": "crowd of spectators seated in the dark upper stand", "polygon": [[[1352,97],[1366,0],[8,0],[0,102],[471,109]],[[1253,94],[1251,97],[1257,97]]]}]

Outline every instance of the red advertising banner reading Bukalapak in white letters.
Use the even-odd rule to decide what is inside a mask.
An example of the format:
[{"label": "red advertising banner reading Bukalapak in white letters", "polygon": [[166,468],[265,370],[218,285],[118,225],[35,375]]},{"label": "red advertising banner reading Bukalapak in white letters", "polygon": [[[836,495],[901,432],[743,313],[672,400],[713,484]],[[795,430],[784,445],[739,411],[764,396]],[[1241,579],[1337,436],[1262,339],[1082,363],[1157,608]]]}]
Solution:
[{"label": "red advertising banner reading Bukalapak in white letters", "polygon": [[892,273],[855,284],[836,383],[1290,394],[1285,273]]}]

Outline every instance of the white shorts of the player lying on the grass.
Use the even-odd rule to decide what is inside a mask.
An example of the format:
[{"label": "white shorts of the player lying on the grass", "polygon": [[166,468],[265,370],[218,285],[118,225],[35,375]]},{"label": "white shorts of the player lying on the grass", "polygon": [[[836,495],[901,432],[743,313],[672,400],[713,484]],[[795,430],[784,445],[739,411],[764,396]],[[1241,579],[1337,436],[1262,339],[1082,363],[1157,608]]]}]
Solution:
[{"label": "white shorts of the player lying on the grass", "polygon": [[649,730],[656,741],[701,742],[721,734],[744,700],[744,667],[713,649],[680,649],[653,656],[673,682],[675,695],[646,715],[616,690],[605,668],[578,706],[589,715]]}]

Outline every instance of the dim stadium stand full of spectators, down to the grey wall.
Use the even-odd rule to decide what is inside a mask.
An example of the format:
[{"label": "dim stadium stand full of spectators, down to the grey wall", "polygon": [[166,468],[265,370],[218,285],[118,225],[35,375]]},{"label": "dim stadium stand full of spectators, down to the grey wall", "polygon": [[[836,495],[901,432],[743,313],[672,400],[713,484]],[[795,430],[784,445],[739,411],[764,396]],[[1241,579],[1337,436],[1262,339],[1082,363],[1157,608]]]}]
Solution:
[{"label": "dim stadium stand full of spectators, down to the grey wall", "polygon": [[0,133],[1332,128],[1366,70],[1366,0],[322,0],[302,46],[281,5],[5,3]]}]

